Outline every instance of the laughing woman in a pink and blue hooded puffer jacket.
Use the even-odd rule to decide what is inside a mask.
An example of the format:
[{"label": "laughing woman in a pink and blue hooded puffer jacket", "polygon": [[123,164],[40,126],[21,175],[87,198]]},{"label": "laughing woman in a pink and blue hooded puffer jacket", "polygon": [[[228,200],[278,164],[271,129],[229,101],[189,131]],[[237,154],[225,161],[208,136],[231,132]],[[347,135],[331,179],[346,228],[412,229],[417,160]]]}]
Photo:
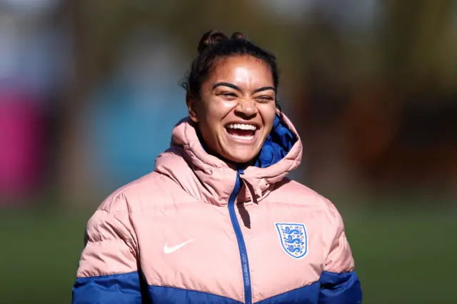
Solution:
[{"label": "laughing woman in a pink and blue hooded puffer jacket", "polygon": [[361,303],[338,211],[285,177],[276,58],[217,31],[198,51],[171,147],[89,220],[73,303]]}]

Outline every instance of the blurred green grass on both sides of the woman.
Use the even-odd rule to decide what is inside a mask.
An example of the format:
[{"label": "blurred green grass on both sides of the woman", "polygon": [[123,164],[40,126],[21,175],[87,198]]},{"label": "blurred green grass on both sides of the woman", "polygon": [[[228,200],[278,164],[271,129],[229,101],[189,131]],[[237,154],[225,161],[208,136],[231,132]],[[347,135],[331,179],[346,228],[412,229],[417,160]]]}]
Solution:
[{"label": "blurred green grass on both sides of the woman", "polygon": [[[344,211],[365,304],[457,303],[457,214]],[[0,303],[71,303],[90,213],[0,215]]]}]

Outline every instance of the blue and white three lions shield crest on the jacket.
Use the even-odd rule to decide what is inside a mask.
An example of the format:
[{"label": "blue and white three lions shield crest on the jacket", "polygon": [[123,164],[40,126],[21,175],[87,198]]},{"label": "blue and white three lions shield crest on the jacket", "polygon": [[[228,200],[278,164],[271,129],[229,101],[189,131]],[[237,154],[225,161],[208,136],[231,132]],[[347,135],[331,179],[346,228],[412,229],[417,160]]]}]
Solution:
[{"label": "blue and white three lions shield crest on the jacket", "polygon": [[292,258],[300,259],[308,253],[306,227],[298,223],[275,223],[281,245]]}]

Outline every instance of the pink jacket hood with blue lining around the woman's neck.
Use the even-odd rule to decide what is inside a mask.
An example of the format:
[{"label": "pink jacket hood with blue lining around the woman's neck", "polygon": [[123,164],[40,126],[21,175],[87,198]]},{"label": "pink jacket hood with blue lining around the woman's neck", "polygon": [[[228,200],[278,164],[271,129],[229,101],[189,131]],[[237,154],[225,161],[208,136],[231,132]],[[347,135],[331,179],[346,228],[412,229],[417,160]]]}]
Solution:
[{"label": "pink jacket hood with blue lining around the woman's neck", "polygon": [[290,171],[301,163],[301,139],[291,121],[276,115],[271,133],[263,143],[253,166],[236,165],[206,153],[196,127],[189,117],[176,124],[171,147],[156,158],[156,172],[169,176],[197,199],[224,206],[236,183],[237,171],[243,188],[237,198],[241,202],[259,202]]}]

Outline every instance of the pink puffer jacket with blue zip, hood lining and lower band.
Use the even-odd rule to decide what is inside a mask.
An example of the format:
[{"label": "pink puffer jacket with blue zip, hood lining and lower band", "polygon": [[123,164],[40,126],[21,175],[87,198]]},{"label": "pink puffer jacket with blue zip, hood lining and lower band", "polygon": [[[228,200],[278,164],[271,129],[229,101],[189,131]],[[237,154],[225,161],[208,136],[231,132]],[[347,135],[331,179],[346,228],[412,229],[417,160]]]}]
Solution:
[{"label": "pink puffer jacket with blue zip, hood lining and lower band", "polygon": [[302,144],[275,123],[256,166],[236,168],[181,121],[155,171],[90,219],[73,303],[361,303],[341,216],[285,177]]}]

